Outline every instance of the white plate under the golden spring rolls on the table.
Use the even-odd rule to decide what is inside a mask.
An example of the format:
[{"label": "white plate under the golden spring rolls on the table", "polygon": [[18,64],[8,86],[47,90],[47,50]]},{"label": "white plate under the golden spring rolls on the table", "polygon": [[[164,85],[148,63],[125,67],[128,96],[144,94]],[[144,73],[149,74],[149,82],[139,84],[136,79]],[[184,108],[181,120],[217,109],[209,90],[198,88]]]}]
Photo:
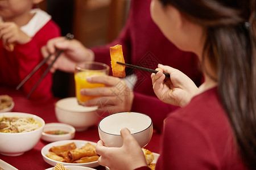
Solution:
[{"label": "white plate under the golden spring rolls on the table", "polygon": [[57,142],[52,142],[49,143],[48,145],[44,146],[41,150],[41,154],[43,156],[43,159],[45,162],[47,162],[50,165],[55,166],[57,163],[63,164],[63,165],[76,165],[76,166],[82,166],[82,167],[90,167],[90,168],[94,168],[94,167],[98,167],[98,161],[94,161],[94,162],[89,162],[89,163],[64,163],[64,162],[59,162],[53,159],[49,159],[46,155],[49,152],[49,149],[53,146],[61,146],[61,145],[65,145],[67,143],[71,143],[74,142],[76,147],[82,147],[84,146],[86,143],[90,143],[94,146],[97,145],[97,143],[95,142],[90,142],[90,141],[82,141],[82,140],[65,140],[65,141],[57,141]]}]

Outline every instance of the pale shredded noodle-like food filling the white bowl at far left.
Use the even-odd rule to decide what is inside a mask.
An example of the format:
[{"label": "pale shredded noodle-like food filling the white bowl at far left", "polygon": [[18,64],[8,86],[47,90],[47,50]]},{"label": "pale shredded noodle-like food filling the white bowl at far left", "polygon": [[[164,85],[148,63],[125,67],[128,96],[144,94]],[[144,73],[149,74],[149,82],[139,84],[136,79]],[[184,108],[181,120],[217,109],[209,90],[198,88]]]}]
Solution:
[{"label": "pale shredded noodle-like food filling the white bowl at far left", "polygon": [[0,132],[24,133],[39,129],[42,125],[31,117],[1,117]]}]

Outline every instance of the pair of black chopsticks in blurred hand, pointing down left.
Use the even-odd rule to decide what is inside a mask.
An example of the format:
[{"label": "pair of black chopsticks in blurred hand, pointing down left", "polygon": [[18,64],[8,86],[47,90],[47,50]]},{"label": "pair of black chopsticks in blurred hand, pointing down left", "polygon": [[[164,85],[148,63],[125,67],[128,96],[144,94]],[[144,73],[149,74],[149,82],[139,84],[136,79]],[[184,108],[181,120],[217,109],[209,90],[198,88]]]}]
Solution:
[{"label": "pair of black chopsticks in blurred hand, pointing down left", "polygon": [[[73,39],[73,35],[71,33],[68,33],[65,36],[65,39],[67,40],[72,40]],[[31,96],[31,94],[35,91],[36,87],[38,87],[39,83],[43,80],[44,76],[47,75],[49,69],[51,69],[53,63],[55,63],[55,61],[57,60],[57,58],[60,56],[60,54],[63,52],[63,50],[59,50],[59,53],[57,54],[57,56],[55,57],[55,59],[52,61],[52,63],[47,67],[46,71],[44,71],[44,73],[42,74],[42,76],[40,77],[40,79],[38,80],[38,82],[36,82],[35,86],[32,88],[32,90],[30,91],[30,93],[27,95],[27,98],[29,98]],[[49,54],[49,56],[47,58],[44,58],[43,61],[41,61],[32,71],[30,74],[28,74],[26,76],[26,78],[24,78],[24,80],[22,80],[22,82],[16,87],[16,90],[18,90],[20,87],[22,87],[22,85],[24,83],[27,82],[28,79],[31,78],[31,76],[51,57],[51,54]]]}]

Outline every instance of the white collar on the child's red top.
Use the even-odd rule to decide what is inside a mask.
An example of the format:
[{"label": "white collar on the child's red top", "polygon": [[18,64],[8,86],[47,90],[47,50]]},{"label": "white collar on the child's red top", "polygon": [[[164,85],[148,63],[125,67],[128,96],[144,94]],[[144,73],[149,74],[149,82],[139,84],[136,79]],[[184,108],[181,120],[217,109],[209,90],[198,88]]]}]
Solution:
[{"label": "white collar on the child's red top", "polygon": [[[30,37],[34,37],[36,33],[43,28],[49,20],[51,20],[51,15],[47,12],[41,10],[40,8],[35,8],[30,11],[31,14],[35,14],[33,18],[26,24],[20,27],[20,29]],[[2,17],[0,16],[2,21]]]}]

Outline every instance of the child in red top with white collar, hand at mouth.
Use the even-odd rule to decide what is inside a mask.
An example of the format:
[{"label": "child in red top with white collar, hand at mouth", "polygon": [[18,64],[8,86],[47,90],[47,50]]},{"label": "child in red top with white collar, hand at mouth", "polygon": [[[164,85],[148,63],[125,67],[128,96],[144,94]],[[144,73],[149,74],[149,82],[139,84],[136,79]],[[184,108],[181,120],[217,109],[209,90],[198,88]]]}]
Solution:
[{"label": "child in red top with white collar, hand at mouth", "polygon": [[[15,88],[43,57],[40,48],[49,39],[60,36],[59,27],[46,12],[34,5],[43,0],[0,1],[0,86]],[[7,45],[14,45],[13,49]],[[12,47],[12,46],[11,46]],[[23,85],[27,95],[46,70],[43,65]],[[52,97],[52,75],[48,73],[31,95],[32,99]]]}]

